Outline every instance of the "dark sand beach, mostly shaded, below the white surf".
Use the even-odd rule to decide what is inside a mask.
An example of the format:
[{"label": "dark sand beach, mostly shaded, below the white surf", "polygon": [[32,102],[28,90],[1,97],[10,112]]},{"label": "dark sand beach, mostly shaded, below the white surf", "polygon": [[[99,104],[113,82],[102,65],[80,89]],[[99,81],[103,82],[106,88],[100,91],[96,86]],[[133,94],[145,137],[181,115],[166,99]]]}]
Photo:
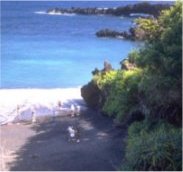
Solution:
[{"label": "dark sand beach, mostly shaded, below the white surf", "polygon": [[[68,126],[80,129],[80,142],[68,141]],[[118,170],[126,130],[111,118],[85,110],[79,117],[1,126],[1,169],[18,171]]]}]

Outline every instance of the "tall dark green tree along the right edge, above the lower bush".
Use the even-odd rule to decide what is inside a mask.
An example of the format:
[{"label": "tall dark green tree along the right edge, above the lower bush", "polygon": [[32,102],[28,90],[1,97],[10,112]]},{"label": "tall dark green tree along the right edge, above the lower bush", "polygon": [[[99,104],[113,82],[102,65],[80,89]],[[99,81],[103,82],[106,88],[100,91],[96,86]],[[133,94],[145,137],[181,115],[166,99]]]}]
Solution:
[{"label": "tall dark green tree along the right edge, above the lower bush", "polygon": [[144,77],[139,91],[151,115],[181,125],[182,121],[182,3],[162,12],[156,33],[140,50],[136,64]]}]

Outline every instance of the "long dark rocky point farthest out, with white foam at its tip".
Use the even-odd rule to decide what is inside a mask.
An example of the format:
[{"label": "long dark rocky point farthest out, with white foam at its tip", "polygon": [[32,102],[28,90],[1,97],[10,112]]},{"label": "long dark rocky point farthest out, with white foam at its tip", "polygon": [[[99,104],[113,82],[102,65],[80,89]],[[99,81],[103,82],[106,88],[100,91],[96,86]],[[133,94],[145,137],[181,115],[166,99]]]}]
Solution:
[{"label": "long dark rocky point farthest out, with white foam at its tip", "polygon": [[134,5],[121,6],[117,8],[53,8],[47,10],[48,14],[80,14],[80,15],[114,15],[114,16],[136,16],[136,14],[147,14],[158,16],[160,11],[169,8],[169,4],[137,3]]}]

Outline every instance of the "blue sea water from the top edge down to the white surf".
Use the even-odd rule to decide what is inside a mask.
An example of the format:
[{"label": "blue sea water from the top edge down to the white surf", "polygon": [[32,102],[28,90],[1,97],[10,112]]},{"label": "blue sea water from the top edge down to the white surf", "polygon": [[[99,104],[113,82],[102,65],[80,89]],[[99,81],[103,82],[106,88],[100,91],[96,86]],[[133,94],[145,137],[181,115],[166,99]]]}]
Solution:
[{"label": "blue sea water from the top edge down to the white surf", "polygon": [[109,60],[115,68],[138,43],[99,39],[127,30],[131,18],[44,14],[53,7],[117,7],[134,2],[1,2],[1,88],[75,87]]}]

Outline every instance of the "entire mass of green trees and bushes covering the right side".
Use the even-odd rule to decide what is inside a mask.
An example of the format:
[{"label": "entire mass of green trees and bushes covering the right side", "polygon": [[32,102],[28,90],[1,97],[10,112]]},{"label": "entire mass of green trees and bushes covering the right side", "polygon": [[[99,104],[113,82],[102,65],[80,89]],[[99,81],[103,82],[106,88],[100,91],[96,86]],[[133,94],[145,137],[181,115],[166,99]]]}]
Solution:
[{"label": "entire mass of green trees and bushes covering the right side", "polygon": [[182,3],[136,22],[144,47],[120,70],[93,72],[94,101],[105,114],[132,123],[122,170],[182,170]]}]

